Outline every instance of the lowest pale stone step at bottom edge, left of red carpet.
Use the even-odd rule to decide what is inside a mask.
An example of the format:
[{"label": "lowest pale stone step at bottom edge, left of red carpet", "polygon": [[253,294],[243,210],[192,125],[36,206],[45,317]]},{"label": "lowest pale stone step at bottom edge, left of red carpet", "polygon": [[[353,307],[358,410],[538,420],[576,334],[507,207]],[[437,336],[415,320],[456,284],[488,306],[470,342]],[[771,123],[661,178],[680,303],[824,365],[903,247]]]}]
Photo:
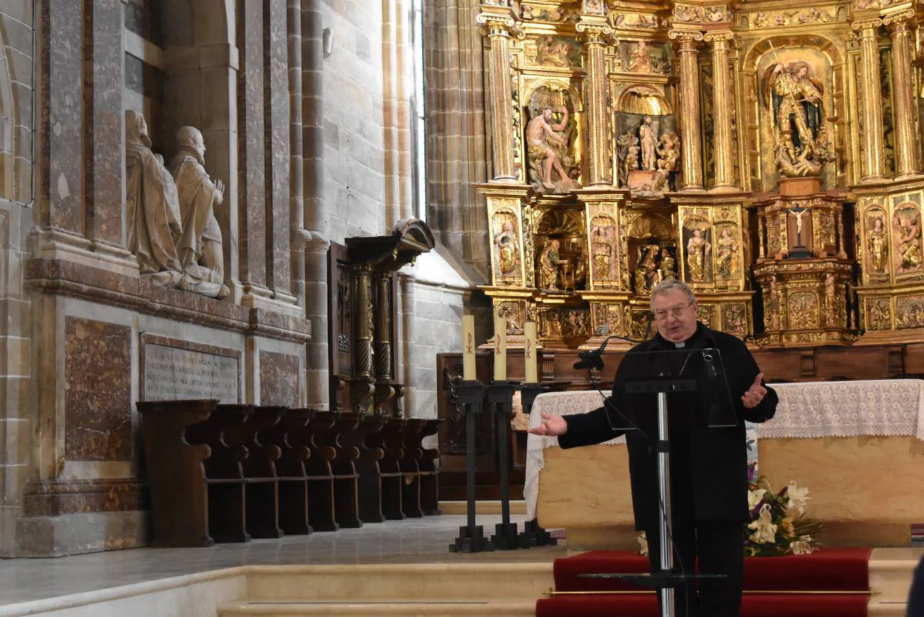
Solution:
[{"label": "lowest pale stone step at bottom edge, left of red carpet", "polygon": [[306,599],[286,602],[229,602],[218,607],[218,617],[256,616],[291,617],[292,615],[340,615],[365,617],[533,617],[536,600],[504,599],[386,599],[326,600]]}]

